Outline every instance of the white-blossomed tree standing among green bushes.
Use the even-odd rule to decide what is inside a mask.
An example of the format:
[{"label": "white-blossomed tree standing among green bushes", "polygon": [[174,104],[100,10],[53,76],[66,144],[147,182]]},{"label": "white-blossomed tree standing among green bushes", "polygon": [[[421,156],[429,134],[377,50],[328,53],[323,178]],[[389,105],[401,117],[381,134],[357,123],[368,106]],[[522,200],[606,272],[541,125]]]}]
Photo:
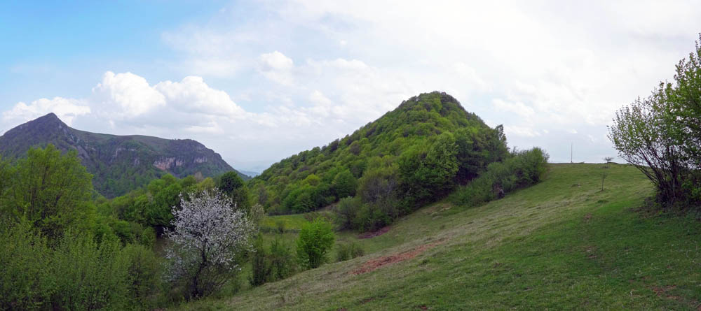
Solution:
[{"label": "white-blossomed tree standing among green bushes", "polygon": [[181,195],[180,201],[181,208],[172,208],[172,229],[165,231],[168,277],[183,282],[188,298],[207,296],[238,273],[237,255],[250,249],[255,226],[216,189]]}]

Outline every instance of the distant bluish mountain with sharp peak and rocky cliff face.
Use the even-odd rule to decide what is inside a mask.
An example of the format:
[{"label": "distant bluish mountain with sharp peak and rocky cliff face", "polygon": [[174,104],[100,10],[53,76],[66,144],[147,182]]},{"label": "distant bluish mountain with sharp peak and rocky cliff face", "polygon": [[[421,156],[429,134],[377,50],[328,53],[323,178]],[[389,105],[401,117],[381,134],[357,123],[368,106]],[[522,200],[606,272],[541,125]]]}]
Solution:
[{"label": "distant bluish mountain with sharp peak and rocky cliff face", "polygon": [[79,131],[64,124],[53,113],[0,136],[0,155],[4,159],[17,159],[24,157],[30,147],[48,144],[64,152],[76,150],[82,164],[93,174],[95,189],[108,198],[147,185],[165,173],[182,178],[198,173],[210,177],[233,171],[219,154],[195,140]]}]

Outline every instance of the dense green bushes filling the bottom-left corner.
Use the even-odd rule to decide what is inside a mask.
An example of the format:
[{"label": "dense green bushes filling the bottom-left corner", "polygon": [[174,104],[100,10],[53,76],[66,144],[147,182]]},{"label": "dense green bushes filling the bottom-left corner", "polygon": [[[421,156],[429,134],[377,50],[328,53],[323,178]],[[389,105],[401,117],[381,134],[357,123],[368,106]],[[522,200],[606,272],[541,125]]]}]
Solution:
[{"label": "dense green bushes filling the bottom-left corner", "polygon": [[161,265],[145,247],[73,232],[49,247],[24,219],[0,230],[0,247],[3,309],[140,309],[158,302]]}]

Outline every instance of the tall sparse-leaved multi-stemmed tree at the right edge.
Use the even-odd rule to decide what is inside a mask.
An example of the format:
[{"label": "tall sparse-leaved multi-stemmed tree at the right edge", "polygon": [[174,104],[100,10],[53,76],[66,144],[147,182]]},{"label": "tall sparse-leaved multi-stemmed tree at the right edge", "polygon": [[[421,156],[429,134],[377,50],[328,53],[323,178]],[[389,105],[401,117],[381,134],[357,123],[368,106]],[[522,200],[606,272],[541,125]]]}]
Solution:
[{"label": "tall sparse-leaved multi-stemmed tree at the right edge", "polygon": [[701,35],[676,66],[674,83],[660,82],[653,94],[618,110],[608,127],[620,157],[653,182],[663,207],[701,205],[700,42]]}]

